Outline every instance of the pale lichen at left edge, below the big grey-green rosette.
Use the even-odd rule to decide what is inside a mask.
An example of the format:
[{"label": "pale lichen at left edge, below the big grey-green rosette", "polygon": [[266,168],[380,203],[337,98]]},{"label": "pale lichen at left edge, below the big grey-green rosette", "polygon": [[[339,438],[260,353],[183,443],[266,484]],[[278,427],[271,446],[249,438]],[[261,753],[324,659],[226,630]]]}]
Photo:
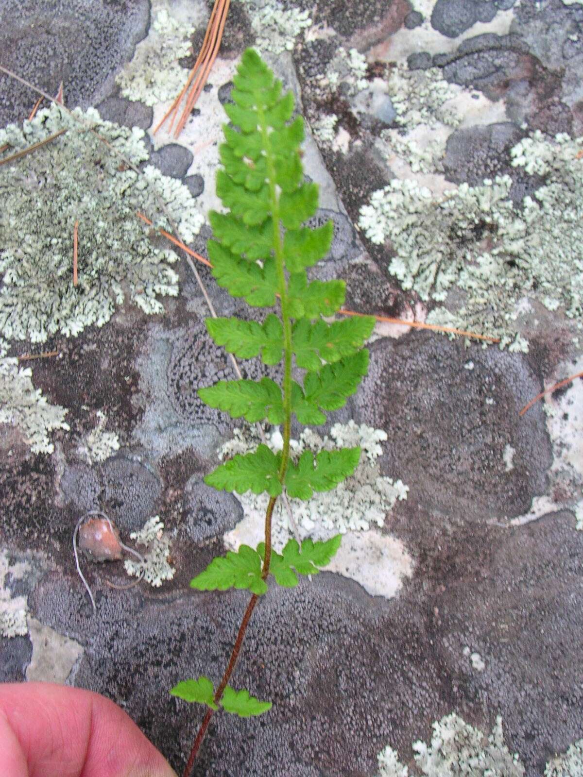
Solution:
[{"label": "pale lichen at left edge, below the big grey-green rosette", "polygon": [[51,405],[40,389],[35,389],[30,367],[19,367],[16,358],[7,357],[6,343],[0,339],[0,423],[18,427],[33,453],[52,453],[49,434],[68,430],[67,410]]}]

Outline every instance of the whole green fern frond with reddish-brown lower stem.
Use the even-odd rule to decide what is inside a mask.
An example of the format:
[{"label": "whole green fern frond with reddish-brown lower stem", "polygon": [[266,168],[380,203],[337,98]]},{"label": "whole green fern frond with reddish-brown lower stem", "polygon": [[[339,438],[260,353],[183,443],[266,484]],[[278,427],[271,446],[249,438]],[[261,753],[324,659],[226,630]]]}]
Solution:
[{"label": "whole green fern frond with reddish-brown lower stem", "polygon": [[[257,451],[233,456],[204,482],[218,490],[267,492],[265,539],[257,549],[241,545],[238,552],[213,559],[190,585],[200,591],[246,588],[252,596],[236,637],[229,665],[215,688],[211,680],[180,682],[173,695],[207,706],[184,777],[190,775],[212,713],[222,706],[239,716],[260,715],[271,702],[260,702],[246,690],[227,683],[235,668],[243,636],[257,599],[267,593],[271,578],[293,587],[298,574],[317,573],[337,552],[340,535],[326,542],[305,539],[301,547],[289,540],[281,554],[271,548],[271,517],[283,490],[289,497],[308,500],[314,491],[333,489],[358,465],[360,448],[322,451],[316,457],[304,451],[290,459],[292,414],[299,423],[326,421],[325,410],[344,406],[368,368],[362,344],[372,332],[371,316],[326,322],[344,303],[344,281],[308,281],[312,267],[330,250],[333,224],[302,226],[318,207],[318,187],[305,183],[299,147],[304,138],[302,117],[292,120],[292,92],[282,96],[281,81],[259,55],[248,49],[233,78],[232,104],[225,105],[231,120],[225,125],[220,148],[222,169],[217,193],[226,213],[211,211],[215,235],[208,242],[212,274],[233,297],[253,307],[276,308],[264,322],[236,318],[207,319],[209,335],[229,353],[242,359],[260,357],[264,364],[284,361],[283,384],[260,381],[219,381],[200,389],[201,399],[234,418],[283,425],[283,448],[277,454],[259,445]],[[303,385],[292,380],[292,359],[305,370]]]}]

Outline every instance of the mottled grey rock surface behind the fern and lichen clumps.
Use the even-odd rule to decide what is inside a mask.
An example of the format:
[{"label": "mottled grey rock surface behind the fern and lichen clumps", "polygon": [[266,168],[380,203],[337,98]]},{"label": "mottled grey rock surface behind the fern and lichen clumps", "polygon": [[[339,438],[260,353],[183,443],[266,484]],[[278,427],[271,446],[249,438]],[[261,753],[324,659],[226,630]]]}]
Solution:
[{"label": "mottled grey rock surface behind the fern and lichen clumps", "polygon": [[[273,587],[253,615],[233,683],[271,699],[273,709],[257,719],[214,716],[194,773],[373,777],[389,745],[419,777],[411,744],[456,713],[482,731],[500,715],[525,775],[542,777],[550,758],[583,737],[581,380],[519,413],[583,370],[583,322],[553,304],[552,290],[520,286],[532,254],[518,238],[501,277],[487,276],[480,257],[508,246],[496,242],[502,211],[489,210],[484,180],[508,176],[517,230],[533,203],[547,208],[557,256],[583,284],[581,257],[567,253],[583,218],[583,140],[568,146],[563,163],[556,138],[583,134],[583,4],[232,0],[208,88],[178,139],[152,134],[169,103],[122,97],[114,80],[139,42],[151,40],[161,10],[194,29],[194,50],[178,63],[187,78],[210,10],[203,0],[0,0],[0,64],[52,94],[62,80],[70,107],[93,105],[105,120],[141,127],[149,162],[183,182],[206,214],[218,204],[222,104],[243,48],[263,47],[306,118],[305,173],[321,193],[313,224],[334,222],[330,255],[312,277],[343,278],[346,308],[383,319],[360,392],[323,429],[354,419],[386,433],[380,472],[409,492],[374,532],[413,559],[393,598],[331,572],[290,591]],[[296,27],[298,12],[311,24]],[[21,122],[36,96],[5,75],[0,87],[0,127]],[[474,274],[483,292],[483,315],[472,319],[478,330],[501,282],[515,279],[518,301],[504,327],[517,347],[403,325],[438,310],[447,324],[463,314],[467,289],[424,296],[413,271],[407,288],[389,271],[395,246],[374,239],[374,208],[368,221],[362,209],[399,182],[425,187],[436,211],[449,191],[477,188],[479,219],[459,232],[452,221],[443,234],[415,234],[430,248],[448,246],[445,260],[454,256],[456,271]],[[549,213],[551,201],[562,205]],[[570,222],[561,221],[565,213]],[[464,216],[462,208],[459,223]],[[418,227],[413,207],[409,217]],[[207,220],[190,248],[207,256],[210,236]],[[420,246],[409,247],[413,262]],[[265,311],[230,298],[208,268],[196,267],[218,315],[263,320]],[[68,424],[49,433],[51,454],[35,454],[20,427],[0,423],[0,560],[5,553],[8,565],[0,566],[0,616],[16,602],[75,640],[82,653],[66,681],[124,706],[180,773],[202,715],[168,690],[198,674],[220,677],[247,602],[241,591],[201,593],[188,584],[247,517],[236,497],[203,482],[243,424],[197,396],[235,371],[208,337],[208,302],[192,266],[180,253],[173,268],[180,291],[162,298],[163,312],[120,304],[104,326],[42,344],[10,341],[0,355],[1,366],[56,352],[18,367],[30,367],[34,389],[66,409]],[[434,270],[437,283],[442,267]],[[265,374],[257,360],[240,366],[246,377]],[[267,374],[281,377],[279,368]],[[72,553],[75,524],[90,510],[105,512],[125,543],[159,516],[174,577],[158,588],[143,580],[121,588],[123,562],[83,558],[93,612]],[[26,679],[35,633],[0,633],[0,681]]]}]

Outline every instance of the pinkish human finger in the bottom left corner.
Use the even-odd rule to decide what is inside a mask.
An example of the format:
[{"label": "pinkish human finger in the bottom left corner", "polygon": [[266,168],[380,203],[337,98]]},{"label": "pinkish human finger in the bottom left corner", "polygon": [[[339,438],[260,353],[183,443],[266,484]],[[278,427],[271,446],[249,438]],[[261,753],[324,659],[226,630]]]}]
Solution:
[{"label": "pinkish human finger in the bottom left corner", "polygon": [[0,684],[2,777],[176,777],[116,704],[52,683]]}]

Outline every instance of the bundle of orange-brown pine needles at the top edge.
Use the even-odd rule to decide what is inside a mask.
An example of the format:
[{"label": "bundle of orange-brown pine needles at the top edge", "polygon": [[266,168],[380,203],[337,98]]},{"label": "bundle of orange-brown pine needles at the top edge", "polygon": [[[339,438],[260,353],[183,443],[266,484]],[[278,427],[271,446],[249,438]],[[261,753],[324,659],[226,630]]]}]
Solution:
[{"label": "bundle of orange-brown pine needles at the top edge", "polygon": [[[197,61],[194,63],[194,68],[190,71],[190,75],[187,78],[186,84],[183,86],[182,91],[174,100],[172,106],[166,112],[158,126],[155,127],[154,134],[159,131],[160,127],[166,122],[168,117],[172,116],[170,121],[169,131],[172,131],[174,121],[178,115],[178,109],[183,98],[187,95],[186,103],[183,108],[183,112],[176,124],[176,131],[174,137],[178,138],[180,132],[183,131],[184,125],[187,123],[188,117],[198,97],[201,95],[204,85],[207,82],[208,74],[215,62],[218,54],[218,49],[221,46],[222,34],[225,30],[225,23],[227,20],[227,14],[229,12],[229,5],[231,0],[215,0],[215,5],[211,12],[211,18],[208,20],[207,30],[204,33],[204,40],[201,46],[200,54],[198,54]],[[194,82],[194,83],[193,83]],[[190,89],[190,93],[189,92]]]}]

